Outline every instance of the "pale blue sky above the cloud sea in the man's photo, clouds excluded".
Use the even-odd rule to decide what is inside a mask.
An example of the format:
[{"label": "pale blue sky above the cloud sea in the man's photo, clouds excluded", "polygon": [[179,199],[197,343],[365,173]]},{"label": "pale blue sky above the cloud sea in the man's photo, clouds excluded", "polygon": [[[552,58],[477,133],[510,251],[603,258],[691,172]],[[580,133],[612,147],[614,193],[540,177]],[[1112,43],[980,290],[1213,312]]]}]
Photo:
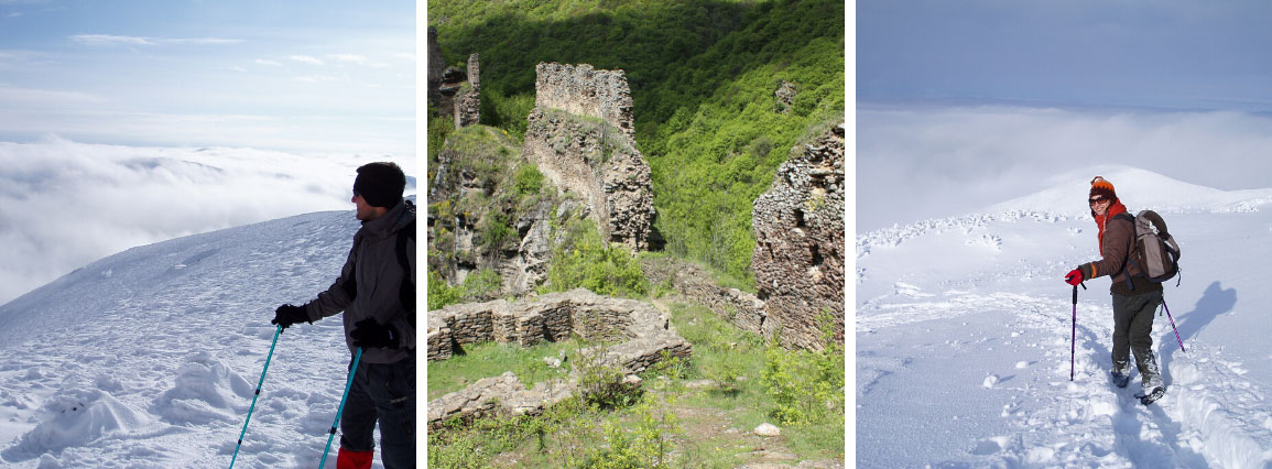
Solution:
[{"label": "pale blue sky above the cloud sea in the man's photo, clouds excluded", "polygon": [[415,8],[0,0],[0,141],[413,154]]}]

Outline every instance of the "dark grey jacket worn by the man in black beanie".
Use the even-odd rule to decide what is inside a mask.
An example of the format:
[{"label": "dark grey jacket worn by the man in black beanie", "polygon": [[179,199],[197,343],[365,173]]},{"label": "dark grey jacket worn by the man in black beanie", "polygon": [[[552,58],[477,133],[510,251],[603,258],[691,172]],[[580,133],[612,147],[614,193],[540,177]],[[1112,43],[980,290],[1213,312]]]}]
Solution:
[{"label": "dark grey jacket worn by the man in black beanie", "polygon": [[318,299],[305,304],[310,320],[345,311],[345,343],[350,352],[356,350],[350,332],[357,322],[375,318],[377,323],[393,328],[394,336],[401,337],[402,348],[365,348],[361,360],[368,364],[392,364],[415,353],[415,327],[399,296],[404,276],[415,283],[415,239],[407,240],[410,272],[402,272],[397,258],[397,233],[412,221],[415,214],[407,210],[404,201],[384,216],[364,221],[354,234],[354,248],[340,269],[340,278],[318,294]]}]

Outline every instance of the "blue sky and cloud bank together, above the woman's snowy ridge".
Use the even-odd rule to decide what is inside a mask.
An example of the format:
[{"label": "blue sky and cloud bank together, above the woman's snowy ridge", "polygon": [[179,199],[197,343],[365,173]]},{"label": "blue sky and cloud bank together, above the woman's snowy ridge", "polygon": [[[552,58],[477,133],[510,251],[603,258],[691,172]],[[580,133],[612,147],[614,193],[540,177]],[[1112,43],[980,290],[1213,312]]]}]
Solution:
[{"label": "blue sky and cloud bank together, above the woman's snowy ridge", "polygon": [[1269,19],[1253,0],[857,1],[857,230],[1105,164],[1272,187]]}]

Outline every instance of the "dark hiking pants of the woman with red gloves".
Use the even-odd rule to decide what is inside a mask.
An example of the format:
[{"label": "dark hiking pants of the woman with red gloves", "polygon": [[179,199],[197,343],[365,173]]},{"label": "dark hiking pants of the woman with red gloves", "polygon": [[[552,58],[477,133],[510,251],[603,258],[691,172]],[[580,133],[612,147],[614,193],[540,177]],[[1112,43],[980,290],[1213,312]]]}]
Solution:
[{"label": "dark hiking pants of the woman with red gloves", "polygon": [[1130,375],[1133,352],[1145,393],[1163,386],[1152,355],[1152,315],[1160,304],[1161,291],[1113,295],[1113,372]]}]

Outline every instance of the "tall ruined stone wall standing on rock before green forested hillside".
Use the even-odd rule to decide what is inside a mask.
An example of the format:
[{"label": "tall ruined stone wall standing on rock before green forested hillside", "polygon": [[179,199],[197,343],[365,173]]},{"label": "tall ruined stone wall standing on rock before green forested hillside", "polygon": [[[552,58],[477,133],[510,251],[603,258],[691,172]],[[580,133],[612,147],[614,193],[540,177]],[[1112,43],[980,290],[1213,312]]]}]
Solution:
[{"label": "tall ruined stone wall standing on rock before green forested hillside", "polygon": [[579,194],[613,243],[649,248],[653,179],[636,150],[622,70],[539,64],[523,156],[557,188]]}]

